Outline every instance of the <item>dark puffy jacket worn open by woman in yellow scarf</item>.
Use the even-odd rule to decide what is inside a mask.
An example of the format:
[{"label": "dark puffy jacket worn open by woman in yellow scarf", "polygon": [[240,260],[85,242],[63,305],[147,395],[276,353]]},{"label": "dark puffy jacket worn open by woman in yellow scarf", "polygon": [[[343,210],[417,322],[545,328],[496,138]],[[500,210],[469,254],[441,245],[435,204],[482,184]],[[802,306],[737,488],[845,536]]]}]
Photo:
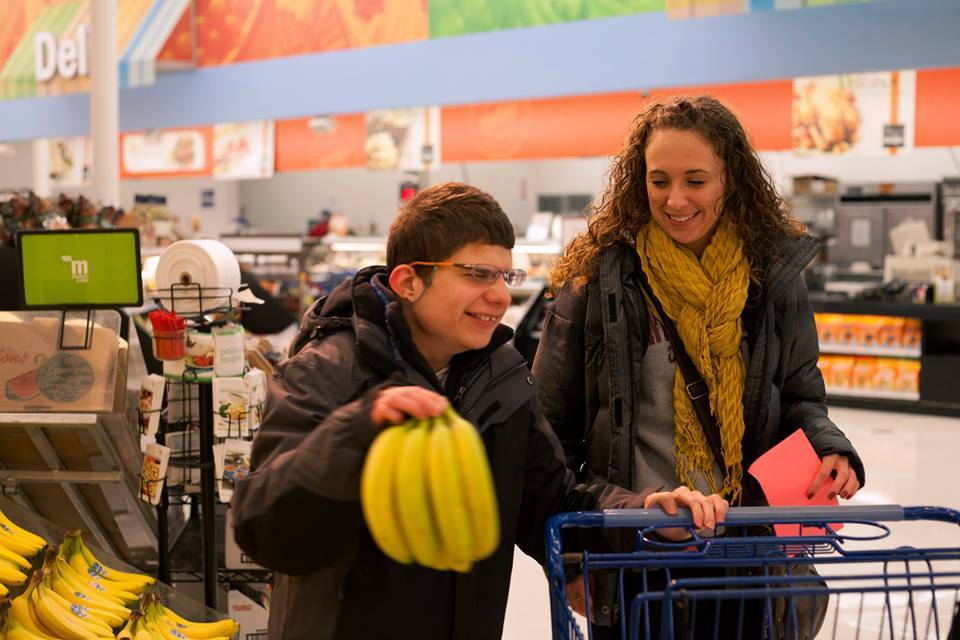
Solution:
[{"label": "dark puffy jacket worn open by woman in yellow scarf", "polygon": [[[784,238],[759,299],[753,289],[748,298],[744,468],[802,427],[818,455],[847,456],[862,485],[863,464],[827,417],[817,368],[817,330],[802,271],[819,247],[809,236]],[[642,428],[634,418],[634,380],[640,379],[649,320],[639,270],[629,244],[605,249],[585,286],[559,292],[533,364],[544,412],[567,464],[581,477],[589,469],[623,487],[631,485],[634,437]]]}]

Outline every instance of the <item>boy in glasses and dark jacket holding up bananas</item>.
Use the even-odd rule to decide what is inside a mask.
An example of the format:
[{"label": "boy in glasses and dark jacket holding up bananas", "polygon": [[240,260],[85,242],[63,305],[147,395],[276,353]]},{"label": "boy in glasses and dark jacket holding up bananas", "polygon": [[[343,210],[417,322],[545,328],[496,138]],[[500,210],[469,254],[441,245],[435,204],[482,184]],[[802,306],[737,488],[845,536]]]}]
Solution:
[{"label": "boy in glasses and dark jacket holding up bananas", "polygon": [[[575,485],[566,470],[500,325],[507,284],[525,276],[513,243],[489,195],[431,187],[394,221],[387,267],[361,270],[304,315],[233,497],[237,542],[277,572],[271,639],[499,638],[514,544],[542,564],[551,514],[642,506],[623,489]],[[467,574],[390,560],[359,502],[377,433],[448,403],[479,429],[500,507],[500,546]]]}]

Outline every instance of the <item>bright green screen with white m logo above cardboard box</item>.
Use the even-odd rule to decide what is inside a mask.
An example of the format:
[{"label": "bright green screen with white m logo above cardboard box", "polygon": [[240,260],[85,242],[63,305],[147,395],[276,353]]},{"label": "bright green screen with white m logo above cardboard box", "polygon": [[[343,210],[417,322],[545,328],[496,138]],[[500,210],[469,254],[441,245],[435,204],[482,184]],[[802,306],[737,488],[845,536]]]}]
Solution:
[{"label": "bright green screen with white m logo above cardboard box", "polygon": [[24,309],[143,304],[136,229],[22,231],[17,244]]}]

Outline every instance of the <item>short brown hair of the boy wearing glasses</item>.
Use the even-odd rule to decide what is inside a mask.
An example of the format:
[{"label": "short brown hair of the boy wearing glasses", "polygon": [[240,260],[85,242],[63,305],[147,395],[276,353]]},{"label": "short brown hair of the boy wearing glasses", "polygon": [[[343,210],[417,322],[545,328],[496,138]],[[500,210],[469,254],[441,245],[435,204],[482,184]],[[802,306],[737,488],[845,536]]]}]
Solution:
[{"label": "short brown hair of the boy wearing glasses", "polygon": [[441,262],[461,247],[492,244],[513,249],[513,225],[490,194],[460,182],[418,193],[400,209],[387,239],[387,268]]}]

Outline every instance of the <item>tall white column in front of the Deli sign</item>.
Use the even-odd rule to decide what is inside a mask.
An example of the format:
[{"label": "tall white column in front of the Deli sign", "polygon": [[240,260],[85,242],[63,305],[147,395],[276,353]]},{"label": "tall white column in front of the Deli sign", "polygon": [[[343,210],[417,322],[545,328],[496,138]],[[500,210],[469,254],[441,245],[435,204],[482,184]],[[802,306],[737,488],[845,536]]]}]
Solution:
[{"label": "tall white column in front of the Deli sign", "polygon": [[91,0],[90,142],[94,202],[120,205],[120,78],[117,0]]}]

